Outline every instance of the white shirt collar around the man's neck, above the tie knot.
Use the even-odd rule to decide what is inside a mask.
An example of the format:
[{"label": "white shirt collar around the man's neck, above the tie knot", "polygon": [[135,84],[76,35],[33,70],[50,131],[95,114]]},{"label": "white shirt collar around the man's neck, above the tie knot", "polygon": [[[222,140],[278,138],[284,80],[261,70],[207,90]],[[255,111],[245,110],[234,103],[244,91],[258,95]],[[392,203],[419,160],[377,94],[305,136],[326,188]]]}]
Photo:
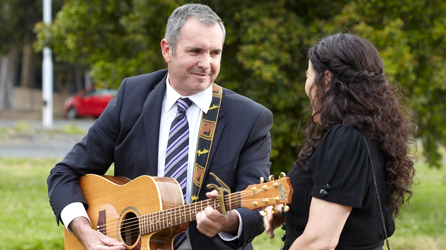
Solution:
[{"label": "white shirt collar around the man's neck, above the tie knot", "polygon": [[169,73],[167,73],[166,79],[166,92],[164,93],[164,107],[165,112],[169,111],[176,100],[180,97],[188,97],[193,103],[195,103],[205,114],[208,113],[209,107],[212,102],[212,84],[205,90],[189,96],[181,96],[178,92],[170,86]]}]

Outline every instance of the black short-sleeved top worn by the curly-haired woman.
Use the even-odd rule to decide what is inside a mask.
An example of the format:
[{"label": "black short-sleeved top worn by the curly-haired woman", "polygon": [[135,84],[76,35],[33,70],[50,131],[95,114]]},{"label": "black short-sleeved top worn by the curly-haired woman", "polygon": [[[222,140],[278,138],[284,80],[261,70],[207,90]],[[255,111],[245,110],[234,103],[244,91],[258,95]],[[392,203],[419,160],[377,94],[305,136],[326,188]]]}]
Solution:
[{"label": "black short-sleeved top worn by the curly-haired woman", "polygon": [[[384,165],[387,158],[375,141],[368,143],[388,236],[395,225],[385,206]],[[288,172],[293,187],[292,204],[285,213],[285,249],[299,237],[308,221],[311,198],[353,207],[336,250],[368,250],[383,246],[384,230],[372,179],[367,143],[354,127],[335,125],[308,160],[310,170],[296,165]],[[329,185],[329,186],[327,186]],[[325,186],[325,187],[324,187]],[[330,187],[331,186],[331,187]]]}]

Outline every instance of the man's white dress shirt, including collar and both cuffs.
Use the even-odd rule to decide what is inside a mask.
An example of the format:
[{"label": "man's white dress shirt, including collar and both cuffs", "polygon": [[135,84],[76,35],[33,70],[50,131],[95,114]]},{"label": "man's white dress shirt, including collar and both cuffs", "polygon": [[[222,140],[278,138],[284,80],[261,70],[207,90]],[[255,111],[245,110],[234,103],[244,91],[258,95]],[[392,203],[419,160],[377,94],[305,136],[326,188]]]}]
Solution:
[{"label": "man's white dress shirt, including collar and both cuffs", "polygon": [[[189,152],[195,152],[197,149],[198,143],[198,133],[200,129],[200,121],[202,112],[207,113],[209,107],[212,102],[212,85],[202,92],[196,93],[190,96],[181,96],[178,92],[176,92],[169,84],[169,77],[167,73],[166,80],[166,92],[164,93],[163,99],[163,107],[161,112],[161,122],[160,122],[160,137],[158,143],[158,176],[164,176],[164,167],[166,160],[166,148],[167,148],[167,139],[169,136],[170,124],[173,119],[175,119],[177,112],[177,104],[176,100],[180,97],[188,97],[193,103],[186,111],[186,117],[189,124]],[[186,204],[190,203],[190,192],[192,189],[192,176],[195,165],[195,154],[189,153],[188,155],[188,164],[187,164],[187,183],[186,183]],[[243,221],[241,219],[240,213],[235,210],[238,214],[239,218],[239,227],[238,234],[236,236],[226,233],[220,232],[220,237],[225,241],[232,241],[234,239],[238,239],[241,235],[241,231],[243,228]],[[88,221],[91,221],[87,215],[87,211],[85,210],[82,203],[76,202],[68,204],[65,208],[60,212],[60,219],[65,225],[67,231],[72,233],[71,230],[68,229],[69,223],[77,218],[77,217],[86,217]],[[179,246],[178,250],[192,250],[189,240],[189,230],[187,230],[187,238],[186,240]]]}]

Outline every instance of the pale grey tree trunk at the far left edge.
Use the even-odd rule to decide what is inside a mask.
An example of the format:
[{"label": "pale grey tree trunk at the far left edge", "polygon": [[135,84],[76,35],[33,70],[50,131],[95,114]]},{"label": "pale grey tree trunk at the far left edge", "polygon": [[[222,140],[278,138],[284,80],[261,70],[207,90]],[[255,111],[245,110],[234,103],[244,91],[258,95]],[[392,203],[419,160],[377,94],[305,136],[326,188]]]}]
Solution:
[{"label": "pale grey tree trunk at the far left edge", "polygon": [[0,59],[0,111],[13,109],[13,87],[17,82],[17,55],[16,45],[12,45],[7,56]]}]

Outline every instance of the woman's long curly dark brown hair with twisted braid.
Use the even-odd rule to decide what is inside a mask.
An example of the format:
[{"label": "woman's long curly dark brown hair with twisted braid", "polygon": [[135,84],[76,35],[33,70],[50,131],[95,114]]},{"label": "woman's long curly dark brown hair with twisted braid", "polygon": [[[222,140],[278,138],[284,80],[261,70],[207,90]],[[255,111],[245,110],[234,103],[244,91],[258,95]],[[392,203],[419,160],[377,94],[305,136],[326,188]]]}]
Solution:
[{"label": "woman's long curly dark brown hair with twisted braid", "polygon": [[[412,191],[415,158],[409,146],[415,126],[410,110],[399,103],[384,75],[384,63],[375,46],[350,34],[327,37],[310,48],[308,57],[315,70],[312,105],[319,110],[308,121],[297,166],[306,162],[324,134],[334,125],[354,126],[367,140],[378,141],[389,157],[386,164],[388,205],[393,217],[401,217],[399,208]],[[326,71],[330,72],[327,81]],[[310,91],[311,92],[311,91]],[[316,103],[317,100],[318,103]],[[311,109],[309,107],[308,109]],[[313,121],[320,116],[319,122]]]}]

